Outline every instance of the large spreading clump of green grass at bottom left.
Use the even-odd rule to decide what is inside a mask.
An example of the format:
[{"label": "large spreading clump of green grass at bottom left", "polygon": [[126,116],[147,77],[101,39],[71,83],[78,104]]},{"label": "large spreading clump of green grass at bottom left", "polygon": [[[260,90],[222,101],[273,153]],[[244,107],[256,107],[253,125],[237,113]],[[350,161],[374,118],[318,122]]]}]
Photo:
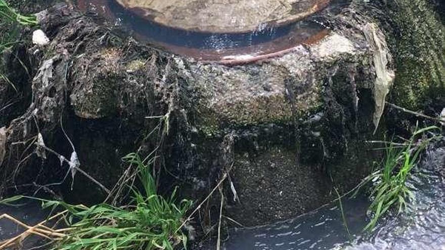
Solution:
[{"label": "large spreading clump of green grass at bottom left", "polygon": [[173,250],[181,243],[186,247],[187,236],[180,228],[192,202],[183,200],[176,206],[175,190],[168,199],[158,195],[150,160],[144,162],[138,154],[129,154],[123,159],[137,166],[143,190],[132,188],[133,200],[127,206],[100,204],[86,207],[39,199],[43,208],[55,210],[62,207],[67,211],[63,215],[67,228],[58,231],[64,236],[52,249]]}]

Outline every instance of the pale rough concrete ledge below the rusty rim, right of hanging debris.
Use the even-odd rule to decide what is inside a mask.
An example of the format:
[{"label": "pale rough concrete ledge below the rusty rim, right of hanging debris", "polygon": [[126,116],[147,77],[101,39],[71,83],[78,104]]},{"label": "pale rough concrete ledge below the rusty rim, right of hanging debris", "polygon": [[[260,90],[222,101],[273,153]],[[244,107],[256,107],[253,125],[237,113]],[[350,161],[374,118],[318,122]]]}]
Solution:
[{"label": "pale rough concrete ledge below the rusty rim, right of hanging debris", "polygon": [[[297,46],[282,57],[259,64],[190,65],[196,79],[191,84],[200,96],[199,127],[211,135],[224,131],[224,127],[292,123],[294,116],[306,117],[322,105],[320,90],[331,75],[355,67],[348,62],[369,55],[370,51],[361,49],[364,46],[365,39],[351,41],[334,33],[310,48]],[[368,75],[363,77],[374,77],[372,62],[364,63],[361,66]]]}]

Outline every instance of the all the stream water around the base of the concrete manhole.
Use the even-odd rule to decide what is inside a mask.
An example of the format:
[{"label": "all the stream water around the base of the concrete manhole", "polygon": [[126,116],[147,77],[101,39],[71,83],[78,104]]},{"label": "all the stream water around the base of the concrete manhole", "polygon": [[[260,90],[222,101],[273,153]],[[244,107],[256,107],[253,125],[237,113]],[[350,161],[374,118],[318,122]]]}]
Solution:
[{"label": "all the stream water around the base of the concrete manhole", "polygon": [[[344,199],[343,209],[349,234],[338,204],[332,204],[297,218],[248,229],[231,229],[222,249],[226,250],[443,250],[445,249],[445,146],[428,151],[409,181],[416,200],[399,216],[388,216],[370,235],[363,235],[367,223],[366,197]],[[37,204],[0,207],[0,214],[35,224],[45,214]],[[22,232],[23,228],[0,220],[0,241]],[[35,243],[30,241],[27,244]],[[214,249],[209,244],[200,249]]]}]

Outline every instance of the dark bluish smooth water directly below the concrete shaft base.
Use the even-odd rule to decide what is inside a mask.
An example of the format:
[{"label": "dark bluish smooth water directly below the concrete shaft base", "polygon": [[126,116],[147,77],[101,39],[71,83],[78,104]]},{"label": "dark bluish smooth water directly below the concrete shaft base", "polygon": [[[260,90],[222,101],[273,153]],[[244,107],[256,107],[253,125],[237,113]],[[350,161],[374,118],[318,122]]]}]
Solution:
[{"label": "dark bluish smooth water directly below the concrete shaft base", "polygon": [[332,206],[273,225],[234,230],[224,249],[331,249],[356,237],[365,226],[366,198],[345,200],[342,205],[351,235],[346,231],[339,207]]}]

